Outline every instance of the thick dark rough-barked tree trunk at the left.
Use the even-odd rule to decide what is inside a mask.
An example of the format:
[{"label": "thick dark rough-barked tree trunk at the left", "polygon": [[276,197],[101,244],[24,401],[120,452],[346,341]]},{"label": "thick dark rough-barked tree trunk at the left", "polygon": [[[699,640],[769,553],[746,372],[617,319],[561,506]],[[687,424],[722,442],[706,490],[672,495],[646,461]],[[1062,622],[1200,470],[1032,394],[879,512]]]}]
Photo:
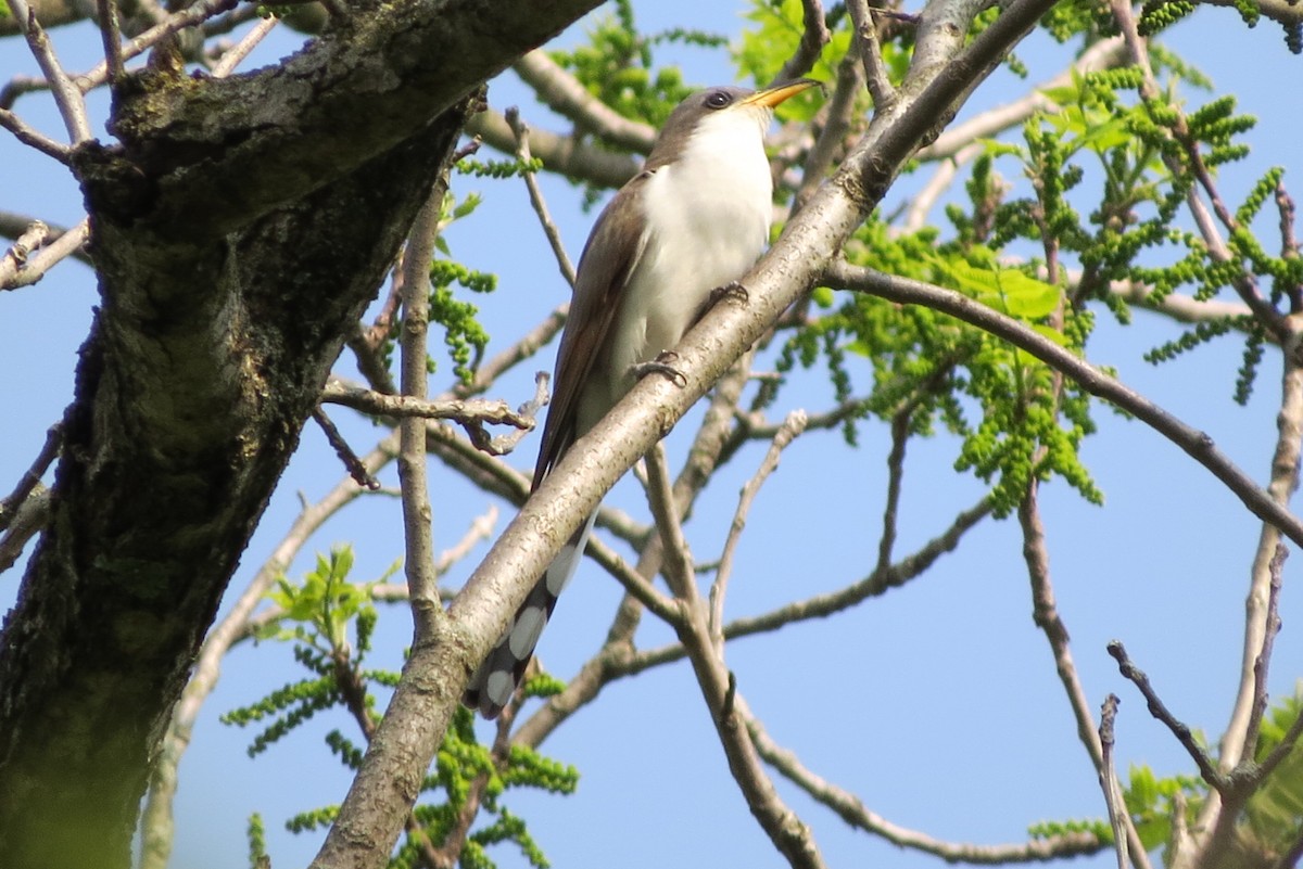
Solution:
[{"label": "thick dark rough-barked tree trunk at the left", "polygon": [[592,5],[358,9],[237,82],[119,83],[122,146],[76,164],[102,304],[0,636],[0,865],[128,865],[199,643],[468,95]]}]

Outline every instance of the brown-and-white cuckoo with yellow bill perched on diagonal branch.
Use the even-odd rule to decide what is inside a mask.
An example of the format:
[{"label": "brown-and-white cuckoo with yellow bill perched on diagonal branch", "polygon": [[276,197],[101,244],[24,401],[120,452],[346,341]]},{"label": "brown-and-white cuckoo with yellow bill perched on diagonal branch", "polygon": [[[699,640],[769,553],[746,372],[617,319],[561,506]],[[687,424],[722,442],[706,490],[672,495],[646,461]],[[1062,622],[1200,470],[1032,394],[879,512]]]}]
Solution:
[{"label": "brown-and-white cuckoo with yellow bill perched on diagonal branch", "polygon": [[[773,215],[765,131],[779,103],[816,85],[709,87],[670,113],[642,170],[598,216],[580,256],[530,492],[637,376],[674,373],[666,353],[714,294],[756,263]],[[485,718],[515,695],[595,518],[594,510],[566,542],[472,675],[463,701]]]}]

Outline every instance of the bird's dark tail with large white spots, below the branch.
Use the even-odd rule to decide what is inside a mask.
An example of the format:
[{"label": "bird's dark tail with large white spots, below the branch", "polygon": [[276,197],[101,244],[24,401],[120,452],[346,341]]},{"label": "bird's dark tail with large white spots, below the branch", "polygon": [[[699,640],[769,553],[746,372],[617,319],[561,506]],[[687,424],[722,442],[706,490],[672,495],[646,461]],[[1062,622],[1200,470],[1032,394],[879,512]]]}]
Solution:
[{"label": "bird's dark tail with large white spots, below the branch", "polygon": [[588,522],[575,532],[556,558],[547,566],[543,575],[538,578],[534,587],[525,596],[525,602],[516,610],[516,618],[498,645],[494,647],[485,662],[480,665],[461,702],[478,709],[485,718],[496,718],[516,693],[516,686],[525,675],[525,667],[534,656],[534,647],[538,637],[547,626],[547,618],[556,606],[556,598],[566,589],[575,568],[579,567],[580,557],[584,554],[584,545],[593,531],[593,520],[597,519],[594,510]]}]

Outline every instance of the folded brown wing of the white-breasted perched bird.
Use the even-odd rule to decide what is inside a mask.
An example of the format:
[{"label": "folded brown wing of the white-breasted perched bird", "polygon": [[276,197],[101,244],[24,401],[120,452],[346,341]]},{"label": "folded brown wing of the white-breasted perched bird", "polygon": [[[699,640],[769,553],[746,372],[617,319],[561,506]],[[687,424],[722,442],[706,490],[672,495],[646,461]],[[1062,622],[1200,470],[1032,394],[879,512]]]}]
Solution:
[{"label": "folded brown wing of the white-breasted perched bird", "polygon": [[615,321],[629,274],[645,246],[638,190],[652,177],[641,172],[620,187],[602,211],[579,260],[575,295],[556,351],[552,401],[534,466],[533,489],[575,442],[579,397]]}]

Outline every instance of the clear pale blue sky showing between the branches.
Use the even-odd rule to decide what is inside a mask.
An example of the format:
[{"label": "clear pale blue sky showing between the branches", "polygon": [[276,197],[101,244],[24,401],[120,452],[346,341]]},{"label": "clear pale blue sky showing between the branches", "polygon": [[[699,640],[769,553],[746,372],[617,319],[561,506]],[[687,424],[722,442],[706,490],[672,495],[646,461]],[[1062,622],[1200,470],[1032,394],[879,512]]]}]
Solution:
[{"label": "clear pale blue sky showing between the branches", "polygon": [[[741,4],[637,3],[646,30],[671,26],[736,34]],[[576,39],[571,31],[564,40]],[[1041,44],[1019,49],[1032,81],[1058,72],[1061,60]],[[1268,165],[1300,168],[1303,95],[1285,83],[1298,81],[1300,59],[1290,56],[1272,25],[1244,29],[1229,9],[1201,9],[1169,40],[1214,83],[1257,114],[1255,155],[1222,174],[1230,199],[1243,196]],[[7,43],[9,52],[18,43]],[[72,66],[87,66],[98,39],[86,30],[57,34]],[[272,62],[294,47],[289,34],[271,40],[253,65]],[[678,60],[691,82],[728,81],[726,59],[683,49]],[[7,64],[8,66],[8,64]],[[29,64],[29,66],[33,66]],[[246,66],[246,68],[251,68]],[[34,66],[31,70],[34,72]],[[1016,79],[997,75],[968,111],[1018,95]],[[1199,101],[1201,95],[1190,95]],[[504,75],[490,101],[520,104],[534,126],[558,129],[526,91]],[[103,113],[103,100],[96,111]],[[18,104],[25,117],[52,134],[57,122],[38,98]],[[102,114],[100,114],[102,116]],[[1294,174],[1295,196],[1303,191]],[[476,220],[448,234],[453,254],[473,268],[499,274],[499,290],[477,299],[494,337],[490,353],[563,301],[566,289],[523,186],[516,181],[464,180],[459,195],[485,195]],[[566,242],[577,255],[592,215],[566,183],[549,180],[549,204]],[[27,159],[0,135],[0,208],[73,222],[79,217],[74,183],[50,163]],[[0,297],[0,399],[8,408],[0,454],[0,488],[8,490],[27,467],[46,428],[70,398],[76,350],[95,304],[90,272],[68,264],[42,284]],[[1230,401],[1239,346],[1222,342],[1162,368],[1140,359],[1151,346],[1177,334],[1173,324],[1139,314],[1136,325],[1104,325],[1092,360],[1111,364],[1131,386],[1188,423],[1208,431],[1243,468],[1265,479],[1274,438],[1278,366],[1269,354],[1257,394],[1247,408]],[[1108,317],[1101,315],[1101,321]],[[496,394],[516,403],[532,392],[536,368],[551,367],[551,351],[500,384]],[[803,376],[786,405],[817,411],[827,386]],[[437,375],[433,386],[446,384]],[[334,414],[358,449],[375,429]],[[691,419],[691,418],[689,418]],[[1259,526],[1237,498],[1171,444],[1104,407],[1095,410],[1100,433],[1084,457],[1106,494],[1102,509],[1083,503],[1061,484],[1044,492],[1044,513],[1059,610],[1074,639],[1074,653],[1093,705],[1108,692],[1122,697],[1119,765],[1152,765],[1160,774],[1191,773],[1175,742],[1144,712],[1136,693],[1117,675],[1104,645],[1126,641],[1178,715],[1218,735],[1230,708],[1238,667],[1246,576]],[[876,552],[889,446],[882,427],[868,425],[857,451],[842,449],[839,434],[805,434],[783,458],[748,520],[730,595],[730,615],[764,611],[796,596],[826,591],[863,576]],[[671,437],[671,461],[681,459],[681,432]],[[675,451],[675,448],[678,453]],[[526,440],[511,458],[533,464]],[[899,552],[934,536],[954,513],[980,497],[981,487],[952,470],[955,445],[946,438],[909,446]],[[758,453],[744,453],[704,494],[688,535],[698,561],[718,554],[736,503],[737,488],[753,472]],[[341,471],[315,429],[305,432],[300,454],[281,483],[232,588],[238,592],[280,540],[298,510],[298,494],[314,500]],[[452,545],[469,516],[493,500],[433,468],[435,544]],[[392,470],[386,481],[392,481]],[[645,518],[632,480],[611,503]],[[509,518],[509,507],[499,528]],[[357,549],[360,579],[383,572],[400,554],[400,519],[391,498],[365,498],[331,520],[296,562],[310,567],[315,552],[334,542]],[[477,549],[482,555],[483,546]],[[625,553],[628,555],[628,553]],[[456,584],[473,565],[451,578]],[[1270,688],[1293,689],[1303,675],[1303,645],[1289,630],[1303,615],[1286,568],[1282,615]],[[0,578],[0,605],[16,593],[18,571]],[[545,635],[541,652],[562,678],[599,645],[618,600],[615,584],[584,566]],[[396,661],[408,641],[401,608],[380,621],[380,649]],[[670,641],[650,621],[638,635],[645,647]],[[912,585],[876,598],[851,614],[744,640],[728,650],[730,666],[770,734],[814,771],[856,792],[874,812],[934,836],[979,843],[1016,842],[1040,820],[1100,817],[1104,813],[1089,761],[1058,687],[1044,637],[1031,622],[1031,601],[1018,529],[988,522],[954,555],[943,558]],[[348,777],[321,743],[331,729],[352,734],[341,717],[313,722],[258,760],[248,760],[249,734],[223,727],[216,715],[297,678],[288,649],[244,647],[225,662],[181,766],[177,843],[181,869],[242,865],[245,818],[261,812],[267,822],[274,865],[305,864],[315,836],[280,831],[285,817],[337,803]],[[580,768],[576,795],[566,799],[521,795],[511,801],[524,816],[555,866],[618,862],[629,869],[675,865],[778,866],[764,834],[727,777],[722,753],[685,665],[662,667],[611,686],[543,745]],[[932,857],[900,852],[850,830],[794,788],[779,790],[814,830],[831,865],[937,865]],[[495,855],[503,868],[525,865],[511,851]],[[1101,856],[1084,865],[1110,865]]]}]

